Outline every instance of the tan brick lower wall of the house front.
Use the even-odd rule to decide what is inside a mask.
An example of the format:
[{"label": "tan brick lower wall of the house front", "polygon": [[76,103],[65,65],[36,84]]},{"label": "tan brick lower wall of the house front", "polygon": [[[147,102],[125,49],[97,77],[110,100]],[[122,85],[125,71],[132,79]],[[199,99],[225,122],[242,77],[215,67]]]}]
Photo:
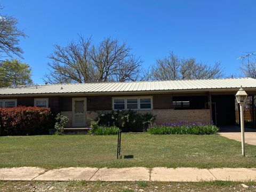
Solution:
[{"label": "tan brick lower wall of the house front", "polygon": [[[97,111],[101,113],[102,111]],[[89,127],[91,121],[98,116],[98,113],[95,111],[86,111],[86,126]],[[105,111],[110,112],[110,110]],[[138,110],[138,113],[152,113],[156,116],[157,124],[165,122],[179,122],[179,121],[188,121],[188,122],[201,122],[201,123],[210,123],[211,116],[209,109],[188,109],[188,110],[174,110],[174,109],[154,109],[154,110]],[[66,115],[70,119],[72,115],[71,111],[62,111],[62,115]],[[71,124],[67,126],[71,127]]]}]

